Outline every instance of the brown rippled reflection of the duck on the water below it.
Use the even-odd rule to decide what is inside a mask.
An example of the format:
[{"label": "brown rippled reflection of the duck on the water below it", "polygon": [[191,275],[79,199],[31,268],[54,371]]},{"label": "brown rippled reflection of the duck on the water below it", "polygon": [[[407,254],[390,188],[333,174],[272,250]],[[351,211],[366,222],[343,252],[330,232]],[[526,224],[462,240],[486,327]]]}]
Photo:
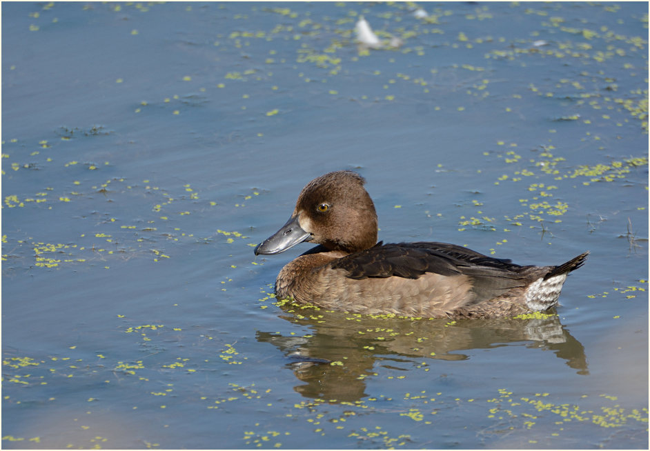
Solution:
[{"label": "brown rippled reflection of the duck on the water below it", "polygon": [[400,362],[413,358],[465,360],[469,357],[457,351],[518,341],[529,341],[528,348],[552,350],[578,374],[589,374],[582,344],[564,330],[555,314],[451,321],[386,319],[323,310],[304,316],[296,313],[299,308],[286,310],[292,315],[282,318],[308,325],[314,332],[284,337],[258,331],[257,340],[273,343],[284,352],[295,377],[304,382],[295,390],[308,398],[358,401],[367,396],[364,379],[375,374],[377,363],[399,370]]}]

